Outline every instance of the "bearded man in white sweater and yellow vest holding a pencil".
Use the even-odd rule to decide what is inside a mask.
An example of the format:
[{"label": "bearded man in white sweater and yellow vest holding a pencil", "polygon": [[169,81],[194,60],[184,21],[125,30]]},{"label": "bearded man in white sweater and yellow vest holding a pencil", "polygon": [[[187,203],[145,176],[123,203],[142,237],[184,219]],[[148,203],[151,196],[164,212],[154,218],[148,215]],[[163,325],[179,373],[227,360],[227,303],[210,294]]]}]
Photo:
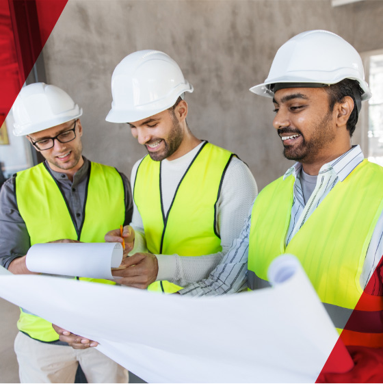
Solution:
[{"label": "bearded man in white sweater and yellow vest holding a pencil", "polygon": [[[129,268],[114,275],[125,285],[174,293],[220,263],[239,235],[256,183],[233,153],[190,131],[184,94],[193,87],[166,53],[125,57],[111,91],[106,120],[128,123],[148,150],[131,173],[134,255],[124,260]],[[121,241],[119,236],[116,230],[105,240]]]}]

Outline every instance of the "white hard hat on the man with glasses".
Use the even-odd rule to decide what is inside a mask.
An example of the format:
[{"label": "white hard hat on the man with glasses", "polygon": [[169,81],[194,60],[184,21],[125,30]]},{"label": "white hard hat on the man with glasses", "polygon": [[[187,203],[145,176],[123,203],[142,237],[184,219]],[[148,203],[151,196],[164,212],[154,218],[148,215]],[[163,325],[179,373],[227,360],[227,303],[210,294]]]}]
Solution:
[{"label": "white hard hat on the man with glasses", "polygon": [[83,110],[61,88],[34,83],[21,88],[12,114],[14,136],[25,136],[78,118]]}]

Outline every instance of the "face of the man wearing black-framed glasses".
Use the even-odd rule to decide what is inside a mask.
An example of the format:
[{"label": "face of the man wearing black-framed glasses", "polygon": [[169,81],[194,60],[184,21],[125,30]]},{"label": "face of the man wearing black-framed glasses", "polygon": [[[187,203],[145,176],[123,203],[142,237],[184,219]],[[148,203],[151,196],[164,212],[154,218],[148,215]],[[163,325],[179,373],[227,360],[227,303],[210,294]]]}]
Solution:
[{"label": "face of the man wearing black-framed glasses", "polygon": [[[27,138],[30,142],[53,138],[64,131],[68,131],[68,129],[72,129],[74,124],[75,120],[70,120],[66,123],[56,125],[55,127],[44,129],[43,131],[31,133]],[[73,175],[79,168],[81,168],[83,164],[83,158],[81,157],[83,149],[81,136],[83,130],[80,120],[77,120],[75,132],[75,140],[62,143],[56,139],[54,146],[45,151],[39,151],[35,146],[36,151],[39,151],[44,158],[47,159],[52,170]]]}]

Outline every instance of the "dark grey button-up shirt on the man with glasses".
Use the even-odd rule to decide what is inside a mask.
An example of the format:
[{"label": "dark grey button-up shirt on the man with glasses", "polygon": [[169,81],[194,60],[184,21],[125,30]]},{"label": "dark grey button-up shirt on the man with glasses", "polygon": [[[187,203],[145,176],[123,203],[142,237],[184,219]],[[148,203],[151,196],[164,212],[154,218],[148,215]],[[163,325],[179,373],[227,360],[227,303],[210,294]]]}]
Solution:
[{"label": "dark grey button-up shirt on the man with glasses", "polygon": [[[83,166],[75,173],[73,181],[61,172],[51,170],[51,174],[59,183],[65,199],[68,202],[70,214],[75,218],[77,228],[81,227],[83,221],[83,204],[85,201],[86,185],[88,183],[88,170],[90,161],[84,159]],[[120,173],[124,183],[125,191],[125,221],[124,225],[131,222],[133,213],[133,200],[131,195],[131,185],[128,178]],[[3,184],[0,192],[0,264],[8,268],[10,262],[16,257],[26,255],[31,247],[29,233],[23,218],[18,212],[16,195],[14,193],[15,177],[11,177]]]}]

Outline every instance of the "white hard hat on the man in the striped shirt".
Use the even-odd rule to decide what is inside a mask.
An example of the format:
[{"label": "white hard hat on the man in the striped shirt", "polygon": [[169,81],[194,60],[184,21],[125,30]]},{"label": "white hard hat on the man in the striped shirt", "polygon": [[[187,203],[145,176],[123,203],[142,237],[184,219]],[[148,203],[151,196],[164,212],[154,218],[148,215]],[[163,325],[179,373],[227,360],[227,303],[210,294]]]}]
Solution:
[{"label": "white hard hat on the man in the striped shirt", "polygon": [[306,31],[278,49],[269,76],[263,84],[250,88],[250,91],[273,97],[274,84],[278,84],[278,89],[290,88],[288,84],[311,88],[336,84],[343,79],[358,81],[363,90],[362,100],[371,97],[362,59],[356,49],[332,32]]}]

